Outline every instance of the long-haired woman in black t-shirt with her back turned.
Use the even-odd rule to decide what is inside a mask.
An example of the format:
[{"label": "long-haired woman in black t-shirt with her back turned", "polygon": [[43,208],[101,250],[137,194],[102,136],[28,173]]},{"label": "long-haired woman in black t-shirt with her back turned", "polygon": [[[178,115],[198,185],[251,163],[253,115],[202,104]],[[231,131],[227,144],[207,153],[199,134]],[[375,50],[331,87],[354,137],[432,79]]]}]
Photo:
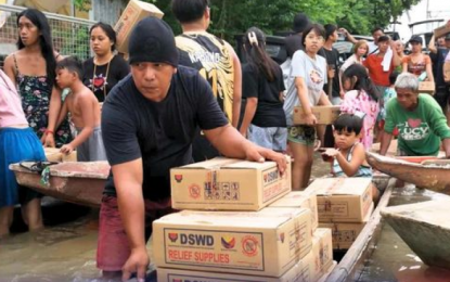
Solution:
[{"label": "long-haired woman in black t-shirt with her back turned", "polygon": [[274,151],[286,151],[284,82],[280,66],[266,53],[266,36],[256,27],[247,30],[244,47],[243,93],[247,99],[241,133],[252,142]]}]

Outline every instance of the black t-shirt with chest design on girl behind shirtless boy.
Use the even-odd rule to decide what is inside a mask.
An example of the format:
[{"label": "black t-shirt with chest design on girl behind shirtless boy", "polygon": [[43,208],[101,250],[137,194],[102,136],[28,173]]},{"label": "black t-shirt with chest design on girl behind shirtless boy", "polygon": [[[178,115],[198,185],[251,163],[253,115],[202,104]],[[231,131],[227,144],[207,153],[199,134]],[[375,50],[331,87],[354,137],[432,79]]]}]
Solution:
[{"label": "black t-shirt with chest design on girl behind shirtless boy", "polygon": [[130,73],[128,63],[118,55],[111,60],[110,67],[108,64],[98,65],[95,76],[93,75],[93,57],[86,60],[82,67],[82,84],[92,90],[99,102],[103,102],[111,89]]}]

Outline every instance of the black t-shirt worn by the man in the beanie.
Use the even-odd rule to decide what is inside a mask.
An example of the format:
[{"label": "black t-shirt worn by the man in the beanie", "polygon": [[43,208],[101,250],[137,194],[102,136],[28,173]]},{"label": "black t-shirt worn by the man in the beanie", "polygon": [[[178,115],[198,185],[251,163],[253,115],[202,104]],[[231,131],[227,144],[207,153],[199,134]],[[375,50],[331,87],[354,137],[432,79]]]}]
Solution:
[{"label": "black t-shirt worn by the man in the beanie", "polygon": [[[102,136],[112,166],[142,158],[143,194],[170,196],[170,168],[192,163],[195,129],[228,124],[208,82],[198,72],[179,66],[162,102],[145,99],[129,75],[107,95],[102,108]],[[105,194],[115,195],[112,175]]]}]

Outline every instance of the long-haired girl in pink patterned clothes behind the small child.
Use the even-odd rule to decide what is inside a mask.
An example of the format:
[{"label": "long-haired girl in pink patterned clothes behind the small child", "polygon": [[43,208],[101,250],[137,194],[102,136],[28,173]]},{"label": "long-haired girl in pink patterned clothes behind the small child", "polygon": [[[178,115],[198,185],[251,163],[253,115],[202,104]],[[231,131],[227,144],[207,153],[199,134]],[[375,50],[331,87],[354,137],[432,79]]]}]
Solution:
[{"label": "long-haired girl in pink patterned clothes behind the small child", "polygon": [[369,78],[365,67],[350,65],[343,74],[343,87],[348,92],[344,97],[340,111],[347,114],[364,113],[361,143],[367,150],[372,148],[373,130],[380,112],[380,93]]}]

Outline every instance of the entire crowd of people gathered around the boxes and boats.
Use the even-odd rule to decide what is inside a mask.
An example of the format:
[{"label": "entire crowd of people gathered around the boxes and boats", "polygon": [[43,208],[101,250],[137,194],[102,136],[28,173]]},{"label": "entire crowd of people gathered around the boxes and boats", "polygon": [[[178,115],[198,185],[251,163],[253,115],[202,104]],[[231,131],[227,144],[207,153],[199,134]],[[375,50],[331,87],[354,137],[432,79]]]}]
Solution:
[{"label": "entire crowd of people gathered around the boxes and boats", "polygon": [[[412,37],[404,55],[403,43],[382,28],[373,29],[373,42],[356,40],[345,28],[300,13],[286,37],[286,62],[278,65],[266,52],[263,31],[250,27],[241,65],[233,48],[207,31],[208,1],[172,0],[171,8],[182,34],[175,37],[162,20],[142,20],[130,35],[128,62],[115,53],[116,34],[107,24],[90,28],[94,56],[80,62],[53,50],[41,12],[18,14],[18,50],[0,70],[0,236],[9,233],[16,204],[29,230],[42,228],[41,195],[18,185],[8,168],[43,161],[41,143],[65,154],[76,150],[79,162],[111,164],[97,260],[105,277],[124,279],[143,279],[152,222],[173,211],[172,167],[223,155],[271,159],[283,174],[290,154],[292,187],[301,190],[322,142],[335,177],[371,177],[365,150],[381,141],[386,154],[393,138],[400,155],[436,155],[442,148],[450,157],[450,89],[442,70],[450,34],[439,40],[443,46],[432,39],[430,55],[422,52],[422,38]],[[333,47],[339,33],[355,43],[344,64]],[[424,80],[436,84],[434,97],[420,93]],[[63,100],[64,89],[69,94]],[[332,126],[317,125],[311,107],[332,104],[343,114]],[[304,111],[304,125],[294,124],[295,106]]]}]

